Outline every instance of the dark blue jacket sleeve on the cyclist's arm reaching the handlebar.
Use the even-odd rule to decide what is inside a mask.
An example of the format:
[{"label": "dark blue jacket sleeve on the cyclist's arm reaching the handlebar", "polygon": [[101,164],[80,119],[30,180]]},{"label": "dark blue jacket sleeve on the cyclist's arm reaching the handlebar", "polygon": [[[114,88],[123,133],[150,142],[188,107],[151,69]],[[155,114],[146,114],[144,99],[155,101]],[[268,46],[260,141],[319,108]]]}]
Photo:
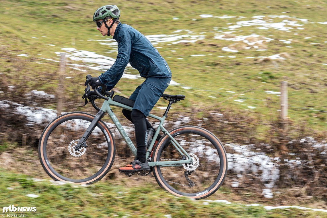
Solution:
[{"label": "dark blue jacket sleeve on the cyclist's arm reaching the handlebar", "polygon": [[[118,54],[116,61],[111,68],[101,74],[99,79],[107,86],[115,85],[122,77],[124,70],[129,62],[132,41],[128,28],[120,28],[117,36]],[[115,84],[112,84],[114,82]]]}]

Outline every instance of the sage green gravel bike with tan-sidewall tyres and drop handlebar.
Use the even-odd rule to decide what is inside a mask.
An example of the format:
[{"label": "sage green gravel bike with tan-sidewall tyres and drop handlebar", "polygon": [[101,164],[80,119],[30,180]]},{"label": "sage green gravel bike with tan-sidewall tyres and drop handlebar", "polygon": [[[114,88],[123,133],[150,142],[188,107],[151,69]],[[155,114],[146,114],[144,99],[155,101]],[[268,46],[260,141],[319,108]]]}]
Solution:
[{"label": "sage green gravel bike with tan-sidewall tyres and drop handlebar", "polygon": [[[102,90],[106,90],[106,87],[102,87]],[[108,173],[115,158],[116,146],[112,132],[101,120],[105,113],[109,114],[132,154],[136,156],[133,142],[111,109],[115,106],[132,110],[133,102],[114,95],[114,91],[100,93],[97,88],[90,91],[89,85],[83,97],[85,104],[89,99],[98,111],[95,116],[84,112],[62,114],[52,120],[41,135],[39,158],[45,172],[54,180],[91,184]],[[225,149],[213,133],[198,126],[166,130],[163,124],[171,105],[183,100],[185,96],[163,94],[162,97],[169,101],[163,116],[149,114],[149,117],[160,121],[152,138],[156,139],[160,131],[163,136],[156,145],[155,140],[148,141],[146,158],[151,170],[142,173],[153,173],[158,184],[174,195],[206,198],[215,193],[225,179]],[[101,108],[95,104],[98,98],[104,99]]]}]

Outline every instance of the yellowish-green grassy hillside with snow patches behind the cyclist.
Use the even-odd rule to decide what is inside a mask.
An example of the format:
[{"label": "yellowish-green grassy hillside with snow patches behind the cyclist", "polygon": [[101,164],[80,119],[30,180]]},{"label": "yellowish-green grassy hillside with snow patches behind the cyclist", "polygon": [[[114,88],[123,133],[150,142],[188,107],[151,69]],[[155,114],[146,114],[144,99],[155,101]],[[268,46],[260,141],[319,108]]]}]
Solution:
[{"label": "yellowish-green grassy hillside with snow patches behind the cyclist", "polygon": [[[112,58],[116,56],[115,52],[107,53],[110,50],[109,46],[94,41],[107,39],[99,35],[92,22],[95,9],[102,6],[103,1],[53,0],[39,3],[32,0],[14,2],[3,0],[1,4],[0,50],[4,52],[0,58],[0,73],[4,74],[6,85],[19,84],[24,91],[37,89],[53,92],[57,86],[55,78],[58,63],[40,58],[58,61],[59,56],[55,52],[62,52],[60,49],[64,47],[92,51]],[[294,121],[294,125],[304,122],[314,130],[326,130],[327,115],[323,112],[327,111],[324,104],[327,98],[325,73],[327,66],[323,65],[327,63],[326,25],[318,24],[318,22],[326,22],[326,2],[124,0],[117,4],[122,11],[121,21],[132,25],[145,35],[172,35],[177,29],[194,31],[191,35],[205,35],[204,39],[195,43],[162,43],[156,46],[161,47],[158,50],[167,60],[173,73],[173,80],[181,83],[179,86],[169,86],[166,93],[186,95],[185,101],[179,107],[176,106],[174,111],[218,105],[222,108],[249,110],[253,111],[253,114],[261,114],[264,123],[270,116],[266,107],[267,98],[274,103],[274,110],[279,109],[279,97],[265,92],[279,92],[281,81],[288,81],[290,105],[288,116]],[[246,19],[200,18],[200,14],[242,16]],[[240,27],[231,34],[236,36],[257,34],[274,39],[271,42],[264,42],[268,51],[256,51],[253,48],[239,49],[238,53],[222,51],[225,46],[235,44],[236,47],[242,47],[243,44],[215,39],[215,35],[221,34],[218,31],[230,31],[227,28],[231,26],[230,24],[236,25],[239,21],[253,20],[253,16],[259,15],[266,16],[264,20],[267,22],[278,23],[287,19],[303,26],[287,25],[293,28],[290,32],[274,28],[258,29],[257,26]],[[270,18],[267,17],[269,15],[290,17]],[[173,20],[173,17],[179,20]],[[307,19],[308,23],[297,20],[298,18]],[[297,27],[304,29],[297,29]],[[290,39],[291,44],[280,41]],[[288,45],[293,48],[287,48]],[[286,60],[282,62],[260,62],[260,58],[246,59],[246,57],[281,53],[287,53]],[[29,56],[21,57],[16,56],[17,54]],[[190,56],[195,54],[206,56]],[[236,58],[218,58],[223,55],[233,55]],[[40,61],[42,64],[37,63]],[[70,60],[69,62],[76,63]],[[101,73],[86,70],[88,72],[84,73],[66,67],[66,75],[74,77],[65,82],[67,101],[82,103],[80,96],[84,90],[85,75],[96,76]],[[130,73],[137,74],[136,71]],[[121,79],[116,88],[128,96],[141,82],[142,79]],[[183,89],[182,86],[193,89]],[[246,101],[235,102],[234,100],[237,99],[246,99]],[[165,103],[159,102],[160,107],[163,105]],[[248,106],[256,108],[249,109]]]}]

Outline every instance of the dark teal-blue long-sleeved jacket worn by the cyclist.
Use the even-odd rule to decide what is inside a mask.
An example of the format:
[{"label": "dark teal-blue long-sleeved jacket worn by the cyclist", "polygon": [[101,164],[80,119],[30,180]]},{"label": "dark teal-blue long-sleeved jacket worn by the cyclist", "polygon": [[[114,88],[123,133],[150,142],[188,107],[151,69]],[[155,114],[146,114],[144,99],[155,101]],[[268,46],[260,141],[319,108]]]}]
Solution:
[{"label": "dark teal-blue long-sleeved jacket worn by the cyclist", "polygon": [[167,62],[151,42],[139,31],[127,24],[119,23],[113,39],[118,43],[116,61],[109,70],[99,76],[107,90],[111,90],[122,77],[128,63],[144,78],[171,77]]}]

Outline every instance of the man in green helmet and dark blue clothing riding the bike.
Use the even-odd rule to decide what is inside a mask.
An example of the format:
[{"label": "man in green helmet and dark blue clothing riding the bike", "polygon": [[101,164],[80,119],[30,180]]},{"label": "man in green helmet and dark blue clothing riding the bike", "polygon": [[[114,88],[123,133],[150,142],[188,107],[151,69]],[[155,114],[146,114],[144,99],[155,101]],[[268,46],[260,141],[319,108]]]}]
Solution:
[{"label": "man in green helmet and dark blue clothing riding the bike", "polygon": [[146,117],[168,87],[171,71],[151,42],[133,27],[120,23],[119,17],[120,10],[115,5],[102,6],[95,11],[93,21],[96,23],[96,29],[102,36],[112,36],[117,41],[118,54],[109,70],[98,77],[87,79],[85,85],[89,83],[94,89],[105,84],[107,90],[111,90],[122,77],[128,63],[145,78],[129,97],[135,101],[132,111],[123,109],[124,116],[135,127],[136,158],[130,164],[119,168],[119,171],[125,173],[147,171],[150,167],[146,160],[145,138],[147,129],[153,127]]}]

